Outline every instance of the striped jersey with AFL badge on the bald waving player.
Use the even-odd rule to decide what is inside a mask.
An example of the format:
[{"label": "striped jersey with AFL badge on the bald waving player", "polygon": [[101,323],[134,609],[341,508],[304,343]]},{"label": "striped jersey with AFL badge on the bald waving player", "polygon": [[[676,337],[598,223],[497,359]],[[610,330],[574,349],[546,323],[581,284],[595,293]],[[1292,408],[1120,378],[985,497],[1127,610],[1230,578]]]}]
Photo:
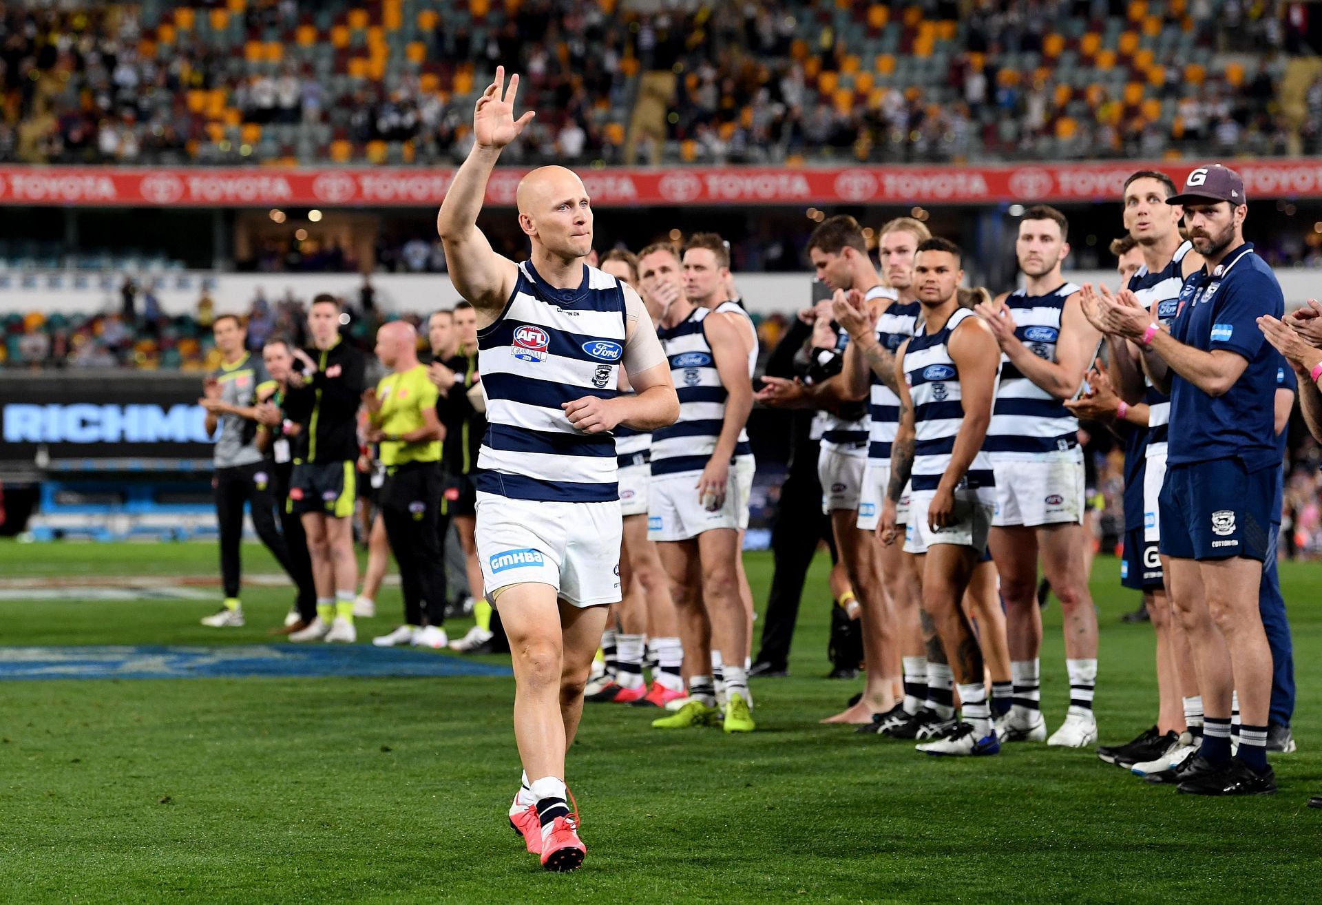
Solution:
[{"label": "striped jersey with AFL badge on the bald waving player", "polygon": [[520,500],[599,503],[619,499],[615,438],[575,430],[564,402],[619,394],[624,291],[615,277],[583,266],[583,283],[547,286],[530,261],[505,310],[477,333],[486,393],[486,433],[476,486]]}]

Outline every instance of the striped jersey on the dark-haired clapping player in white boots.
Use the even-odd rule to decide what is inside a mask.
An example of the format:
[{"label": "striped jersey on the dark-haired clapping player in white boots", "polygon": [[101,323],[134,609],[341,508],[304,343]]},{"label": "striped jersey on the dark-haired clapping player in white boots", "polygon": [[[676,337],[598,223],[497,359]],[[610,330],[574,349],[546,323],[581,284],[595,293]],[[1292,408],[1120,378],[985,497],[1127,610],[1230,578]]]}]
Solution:
[{"label": "striped jersey on the dark-haired clapping player in white boots", "polygon": [[[1077,291],[1077,286],[1066,283],[1046,295],[1018,290],[1006,298],[1005,306],[1015,323],[1014,335],[1038,357],[1056,360],[1060,314],[1066,299]],[[1002,352],[1001,386],[984,447],[992,458],[1015,459],[1069,450],[1079,445],[1077,433],[1079,419],[1062,401],[1019,373]]]}]

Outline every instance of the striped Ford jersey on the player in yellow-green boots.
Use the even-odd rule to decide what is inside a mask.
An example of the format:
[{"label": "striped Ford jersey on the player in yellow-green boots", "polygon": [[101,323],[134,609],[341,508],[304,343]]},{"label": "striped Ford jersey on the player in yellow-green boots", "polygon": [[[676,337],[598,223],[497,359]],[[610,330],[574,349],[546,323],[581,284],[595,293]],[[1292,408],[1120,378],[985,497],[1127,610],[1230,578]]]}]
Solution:
[{"label": "striped Ford jersey on the player in yellow-green boots", "polygon": [[[670,377],[680,396],[680,419],[652,431],[652,474],[701,472],[717,449],[730,396],[707,344],[703,322],[713,308],[694,308],[674,327],[657,329],[670,360]],[[735,456],[751,455],[748,434],[739,431]]]}]

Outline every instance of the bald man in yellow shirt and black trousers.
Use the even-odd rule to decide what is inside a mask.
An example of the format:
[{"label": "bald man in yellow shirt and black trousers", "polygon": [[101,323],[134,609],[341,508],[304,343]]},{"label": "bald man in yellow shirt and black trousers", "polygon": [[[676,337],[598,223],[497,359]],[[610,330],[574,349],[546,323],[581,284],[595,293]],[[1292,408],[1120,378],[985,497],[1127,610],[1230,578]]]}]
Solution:
[{"label": "bald man in yellow shirt and black trousers", "polygon": [[[373,640],[378,647],[449,643],[446,619],[446,566],[440,552],[440,441],[436,415],[439,390],[418,364],[418,331],[395,320],[377,331],[377,357],[390,369],[377,388],[362,394],[368,408],[368,442],[378,443],[386,483],[381,488],[381,520],[399,562],[405,598],[402,626]],[[426,609],[423,609],[426,603]]]}]

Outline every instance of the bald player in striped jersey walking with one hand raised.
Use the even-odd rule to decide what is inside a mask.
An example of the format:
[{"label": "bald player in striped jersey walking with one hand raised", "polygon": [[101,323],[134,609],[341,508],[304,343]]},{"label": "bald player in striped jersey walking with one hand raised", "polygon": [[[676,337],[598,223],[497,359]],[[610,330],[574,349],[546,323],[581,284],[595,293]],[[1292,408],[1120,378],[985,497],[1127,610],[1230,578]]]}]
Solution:
[{"label": "bald player in striped jersey walking with one hand raised", "polygon": [[[518,225],[531,254],[514,263],[477,229],[514,119],[518,75],[505,70],[473,112],[473,150],[436,217],[449,277],[477,310],[477,369],[488,430],[477,459],[477,558],[514,662],[514,737],[524,781],[509,822],[549,871],[587,849],[564,786],[564,752],[583,713],[583,685],[620,601],[615,438],[674,422],[670,365],[637,292],[590,267],[592,205],[563,167],[518,185]],[[617,392],[624,366],[636,393]]]}]

